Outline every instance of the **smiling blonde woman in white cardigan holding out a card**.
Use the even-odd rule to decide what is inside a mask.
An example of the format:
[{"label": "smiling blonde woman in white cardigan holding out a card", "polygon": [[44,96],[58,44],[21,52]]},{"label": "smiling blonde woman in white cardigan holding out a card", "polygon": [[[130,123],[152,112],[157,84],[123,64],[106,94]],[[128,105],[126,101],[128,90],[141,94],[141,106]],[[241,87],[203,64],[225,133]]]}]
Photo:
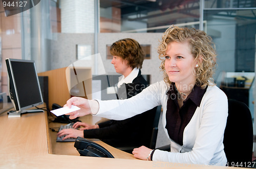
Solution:
[{"label": "smiling blonde woman in white cardigan holding out a card", "polygon": [[71,98],[66,106],[73,104],[81,109],[70,113],[70,118],[93,114],[122,120],[162,105],[170,152],[141,146],[134,149],[135,158],[225,165],[223,135],[228,104],[212,79],[216,51],[211,38],[203,31],[171,26],[162,36],[158,53],[163,60],[162,81],[126,100]]}]

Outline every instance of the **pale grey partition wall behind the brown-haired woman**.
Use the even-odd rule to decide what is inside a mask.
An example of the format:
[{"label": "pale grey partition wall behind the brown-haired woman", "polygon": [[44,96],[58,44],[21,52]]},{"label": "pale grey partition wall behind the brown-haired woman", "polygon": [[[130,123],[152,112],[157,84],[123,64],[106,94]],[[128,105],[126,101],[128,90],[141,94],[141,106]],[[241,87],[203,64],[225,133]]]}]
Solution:
[{"label": "pale grey partition wall behind the brown-haired woman", "polygon": [[[162,79],[162,73],[159,66],[161,61],[158,58],[157,46],[161,33],[100,33],[98,35],[98,53],[101,55],[103,66],[98,66],[95,71],[95,59],[89,58],[85,63],[85,67],[92,67],[92,73],[106,72],[108,74],[115,74],[115,69],[111,64],[110,59],[106,59],[106,45],[111,45],[113,42],[123,38],[133,38],[140,44],[151,45],[151,59],[145,59],[142,65],[142,74],[151,75],[151,83]],[[50,58],[51,69],[58,69],[67,67],[73,62],[77,61],[76,58],[76,45],[88,45],[91,47],[91,54],[94,54],[94,34],[68,34],[56,33],[55,40],[49,40],[50,43]],[[100,60],[97,61],[100,65]]]}]

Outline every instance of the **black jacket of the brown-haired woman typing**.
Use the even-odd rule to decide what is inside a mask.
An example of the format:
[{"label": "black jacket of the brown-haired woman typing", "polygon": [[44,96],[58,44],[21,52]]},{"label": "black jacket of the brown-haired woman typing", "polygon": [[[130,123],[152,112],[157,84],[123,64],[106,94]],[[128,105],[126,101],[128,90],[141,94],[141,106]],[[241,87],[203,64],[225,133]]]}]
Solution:
[{"label": "black jacket of the brown-haired woman typing", "polygon": [[[126,87],[126,92],[121,89]],[[132,83],[121,85],[118,90],[119,99],[130,98],[140,93],[148,86],[147,81],[142,77],[141,71]],[[122,91],[120,93],[120,91]],[[120,97],[121,96],[121,97]],[[120,112],[122,113],[122,112]],[[84,138],[99,138],[113,147],[140,147],[150,145],[153,123],[156,114],[156,107],[125,120],[108,120],[100,123],[99,129],[83,130]]]}]

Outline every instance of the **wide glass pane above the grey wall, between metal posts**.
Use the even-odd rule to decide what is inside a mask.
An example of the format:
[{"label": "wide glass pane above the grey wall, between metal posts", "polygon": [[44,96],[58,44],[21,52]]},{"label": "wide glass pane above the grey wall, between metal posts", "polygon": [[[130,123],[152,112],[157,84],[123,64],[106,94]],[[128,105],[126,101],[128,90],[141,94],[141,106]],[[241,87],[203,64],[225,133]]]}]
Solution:
[{"label": "wide glass pane above the grey wall, between metal posts", "polygon": [[100,32],[162,33],[172,24],[199,25],[200,0],[100,0]]}]

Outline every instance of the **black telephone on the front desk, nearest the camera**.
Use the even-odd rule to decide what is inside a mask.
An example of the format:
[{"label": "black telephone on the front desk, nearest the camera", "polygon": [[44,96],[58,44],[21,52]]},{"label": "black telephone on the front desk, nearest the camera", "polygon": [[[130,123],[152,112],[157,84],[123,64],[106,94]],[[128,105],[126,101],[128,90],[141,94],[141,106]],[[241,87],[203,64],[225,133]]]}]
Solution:
[{"label": "black telephone on the front desk, nearest the camera", "polygon": [[80,156],[114,158],[104,147],[86,138],[77,137],[74,147],[79,152]]}]

